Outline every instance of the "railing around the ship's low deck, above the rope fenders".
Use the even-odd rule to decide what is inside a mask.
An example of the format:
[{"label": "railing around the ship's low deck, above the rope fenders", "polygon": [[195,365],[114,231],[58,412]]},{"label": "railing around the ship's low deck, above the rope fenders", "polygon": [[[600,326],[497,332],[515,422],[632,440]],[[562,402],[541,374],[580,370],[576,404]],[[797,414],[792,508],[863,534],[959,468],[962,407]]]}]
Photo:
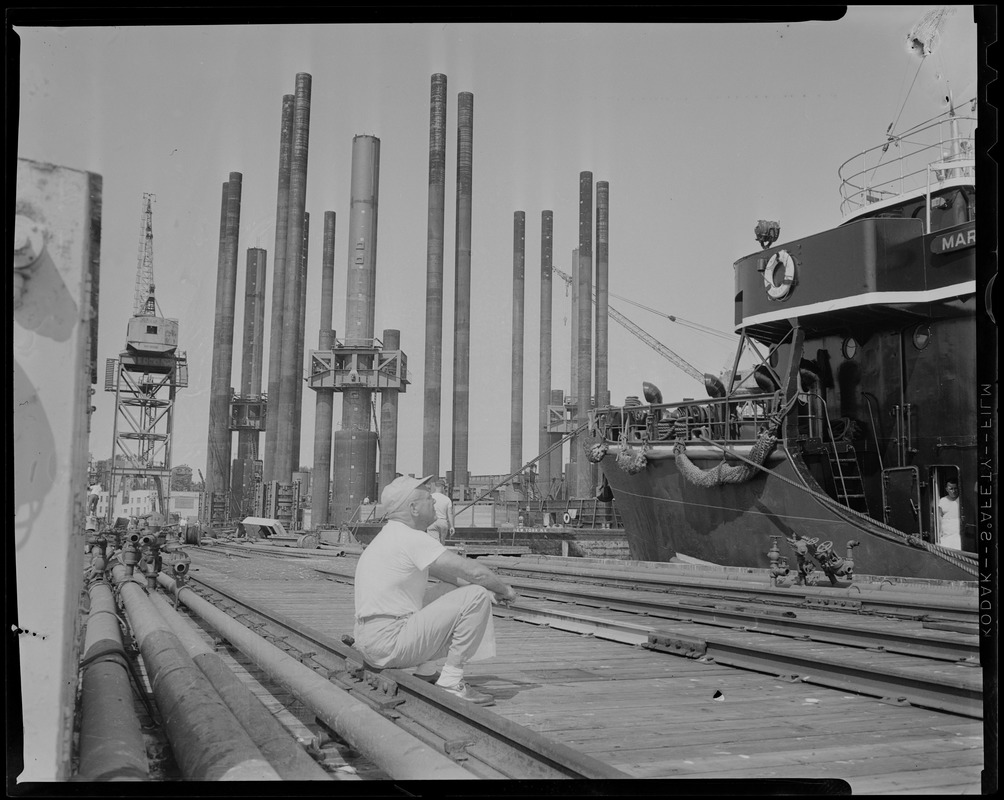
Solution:
[{"label": "railing around the ship's low deck, above the rope fenders", "polygon": [[658,406],[624,406],[600,415],[603,438],[610,444],[644,445],[756,441],[781,404],[778,392],[733,394]]}]

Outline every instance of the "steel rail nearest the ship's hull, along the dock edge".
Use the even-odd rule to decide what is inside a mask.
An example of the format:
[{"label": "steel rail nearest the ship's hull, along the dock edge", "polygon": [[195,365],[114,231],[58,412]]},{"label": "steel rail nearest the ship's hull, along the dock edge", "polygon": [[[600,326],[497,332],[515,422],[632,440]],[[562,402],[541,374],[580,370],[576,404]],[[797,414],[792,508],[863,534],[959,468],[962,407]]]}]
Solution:
[{"label": "steel rail nearest the ship's hull, along the dock edge", "polygon": [[[609,587],[631,588],[639,591],[672,592],[698,596],[733,596],[742,602],[759,602],[783,606],[823,608],[854,613],[873,613],[909,619],[936,619],[969,622],[977,611],[976,595],[972,598],[950,598],[933,592],[924,593],[923,588],[903,596],[905,592],[889,591],[881,596],[878,591],[862,590],[851,585],[845,589],[828,586],[786,588],[757,586],[752,580],[735,579],[715,581],[709,576],[696,578],[693,575],[663,573],[653,575],[648,571],[628,571],[620,568],[595,569],[589,567],[567,567],[561,564],[513,564],[498,559],[483,558],[499,573],[512,576],[546,576],[550,580],[568,582],[598,583]],[[766,574],[766,570],[760,570]],[[738,584],[738,585],[737,585]],[[884,585],[880,583],[878,585]]]}]

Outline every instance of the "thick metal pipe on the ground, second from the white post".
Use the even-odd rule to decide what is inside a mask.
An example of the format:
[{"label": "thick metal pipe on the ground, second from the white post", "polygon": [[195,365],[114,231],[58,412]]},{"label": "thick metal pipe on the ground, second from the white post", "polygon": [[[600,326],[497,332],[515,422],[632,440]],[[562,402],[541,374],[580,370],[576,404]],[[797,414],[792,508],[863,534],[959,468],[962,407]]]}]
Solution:
[{"label": "thick metal pipe on the ground, second from the white post", "polygon": [[187,780],[277,781],[202,671],[167,629],[146,590],[116,566],[112,575],[140,643],[154,697],[178,766]]}]

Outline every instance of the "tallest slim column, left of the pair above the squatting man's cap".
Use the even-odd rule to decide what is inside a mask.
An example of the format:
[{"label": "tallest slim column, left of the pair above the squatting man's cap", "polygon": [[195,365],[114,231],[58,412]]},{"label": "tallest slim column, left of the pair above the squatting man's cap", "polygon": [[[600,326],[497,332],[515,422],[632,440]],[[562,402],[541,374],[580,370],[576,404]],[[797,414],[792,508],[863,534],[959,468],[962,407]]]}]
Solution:
[{"label": "tallest slim column, left of the pair above the squatting man's cap", "polygon": [[426,252],[426,373],[422,474],[440,474],[443,409],[443,253],[446,218],[446,75],[432,79],[429,120],[429,242]]}]

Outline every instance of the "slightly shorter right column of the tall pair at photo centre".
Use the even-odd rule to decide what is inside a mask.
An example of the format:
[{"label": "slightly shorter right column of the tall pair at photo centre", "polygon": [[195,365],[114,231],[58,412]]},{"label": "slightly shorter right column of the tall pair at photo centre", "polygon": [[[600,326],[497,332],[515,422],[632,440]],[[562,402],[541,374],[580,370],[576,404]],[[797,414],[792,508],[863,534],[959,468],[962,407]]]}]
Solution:
[{"label": "slightly shorter right column of the tall pair at photo centre", "polygon": [[[471,406],[471,186],[474,165],[474,95],[457,102],[457,278],[453,334],[453,483],[466,490]],[[462,495],[463,497],[463,495]]]}]

